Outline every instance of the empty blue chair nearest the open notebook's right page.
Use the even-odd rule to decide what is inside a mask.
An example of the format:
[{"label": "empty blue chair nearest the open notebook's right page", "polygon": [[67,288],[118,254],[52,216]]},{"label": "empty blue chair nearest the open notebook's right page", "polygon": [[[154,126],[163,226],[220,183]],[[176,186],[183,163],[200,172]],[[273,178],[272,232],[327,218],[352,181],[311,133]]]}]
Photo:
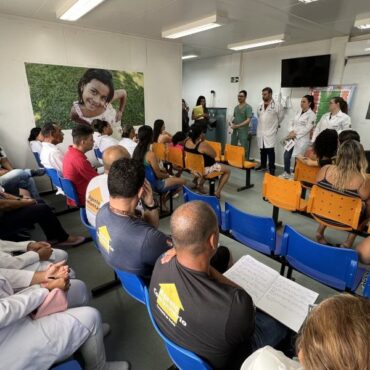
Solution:
[{"label": "empty blue chair nearest the open notebook's right page", "polygon": [[357,252],[316,243],[286,225],[281,256],[289,265],[288,278],[295,269],[340,291],[354,292],[365,270],[358,266]]}]

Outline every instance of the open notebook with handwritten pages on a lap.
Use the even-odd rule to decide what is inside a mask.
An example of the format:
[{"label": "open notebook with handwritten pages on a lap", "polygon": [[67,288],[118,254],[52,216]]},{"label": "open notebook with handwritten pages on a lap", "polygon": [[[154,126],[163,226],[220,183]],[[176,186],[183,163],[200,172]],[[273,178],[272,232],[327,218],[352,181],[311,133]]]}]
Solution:
[{"label": "open notebook with handwritten pages on a lap", "polygon": [[240,258],[224,275],[241,286],[260,310],[295,332],[302,326],[308,306],[319,296],[251,256]]}]

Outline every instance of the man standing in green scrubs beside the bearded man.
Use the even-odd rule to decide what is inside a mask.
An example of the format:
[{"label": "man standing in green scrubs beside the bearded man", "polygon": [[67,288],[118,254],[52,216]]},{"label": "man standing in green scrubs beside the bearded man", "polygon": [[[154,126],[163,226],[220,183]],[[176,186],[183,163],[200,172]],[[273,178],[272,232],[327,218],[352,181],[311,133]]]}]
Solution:
[{"label": "man standing in green scrubs beside the bearded man", "polygon": [[248,159],[248,131],[252,119],[252,107],[247,104],[247,92],[239,91],[239,104],[234,108],[234,117],[230,124],[233,132],[231,134],[231,145],[240,145],[245,149],[245,158]]}]

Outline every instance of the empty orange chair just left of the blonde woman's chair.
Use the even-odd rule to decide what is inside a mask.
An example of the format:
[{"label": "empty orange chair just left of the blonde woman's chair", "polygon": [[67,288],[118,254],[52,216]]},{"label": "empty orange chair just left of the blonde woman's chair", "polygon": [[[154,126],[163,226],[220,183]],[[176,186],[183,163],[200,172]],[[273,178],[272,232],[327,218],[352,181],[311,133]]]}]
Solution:
[{"label": "empty orange chair just left of the blonde woman's chair", "polygon": [[265,174],[262,196],[273,205],[272,218],[276,225],[279,221],[279,209],[305,212],[307,201],[301,198],[302,185],[299,181],[286,180],[269,173]]}]

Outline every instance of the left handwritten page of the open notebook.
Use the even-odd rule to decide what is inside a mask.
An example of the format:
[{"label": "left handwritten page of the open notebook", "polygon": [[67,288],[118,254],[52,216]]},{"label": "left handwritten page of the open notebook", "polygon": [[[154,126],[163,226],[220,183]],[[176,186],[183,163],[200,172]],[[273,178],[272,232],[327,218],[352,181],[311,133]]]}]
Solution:
[{"label": "left handwritten page of the open notebook", "polygon": [[255,305],[280,275],[251,256],[243,256],[224,275],[242,287]]}]

